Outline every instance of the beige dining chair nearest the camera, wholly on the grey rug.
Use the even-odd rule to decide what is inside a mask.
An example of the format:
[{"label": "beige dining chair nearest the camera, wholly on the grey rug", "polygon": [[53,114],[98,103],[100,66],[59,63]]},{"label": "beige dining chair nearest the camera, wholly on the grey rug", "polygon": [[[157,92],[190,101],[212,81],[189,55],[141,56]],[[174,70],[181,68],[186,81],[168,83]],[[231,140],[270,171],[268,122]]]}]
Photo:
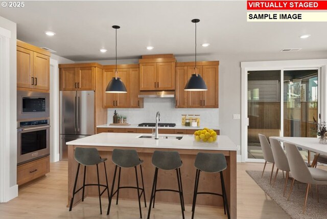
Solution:
[{"label": "beige dining chair nearest the camera, wholly on the grey rug", "polygon": [[294,181],[297,180],[301,183],[307,184],[306,195],[305,195],[305,203],[303,205],[302,213],[306,212],[307,200],[308,200],[308,193],[311,184],[317,186],[317,199],[319,202],[319,193],[318,193],[318,185],[327,185],[327,171],[319,169],[319,168],[312,168],[308,167],[305,161],[303,160],[300,152],[298,151],[295,144],[291,144],[288,142],[284,142],[288,162],[290,165],[290,170],[292,173],[293,181],[291,184],[291,188],[287,197],[289,200]]}]

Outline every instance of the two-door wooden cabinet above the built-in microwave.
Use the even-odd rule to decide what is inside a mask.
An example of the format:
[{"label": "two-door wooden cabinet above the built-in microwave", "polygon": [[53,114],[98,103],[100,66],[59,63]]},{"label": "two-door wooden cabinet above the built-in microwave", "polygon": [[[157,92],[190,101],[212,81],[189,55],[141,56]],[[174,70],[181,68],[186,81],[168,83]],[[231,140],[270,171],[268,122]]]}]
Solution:
[{"label": "two-door wooden cabinet above the built-in microwave", "polygon": [[17,40],[17,89],[50,89],[50,52]]}]

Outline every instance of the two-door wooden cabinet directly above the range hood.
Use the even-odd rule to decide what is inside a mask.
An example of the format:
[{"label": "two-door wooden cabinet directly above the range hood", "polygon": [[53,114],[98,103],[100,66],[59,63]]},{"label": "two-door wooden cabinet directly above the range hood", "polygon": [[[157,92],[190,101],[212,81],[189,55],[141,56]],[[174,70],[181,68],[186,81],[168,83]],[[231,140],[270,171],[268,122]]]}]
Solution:
[{"label": "two-door wooden cabinet directly above the range hood", "polygon": [[139,90],[175,90],[175,58],[139,59]]}]

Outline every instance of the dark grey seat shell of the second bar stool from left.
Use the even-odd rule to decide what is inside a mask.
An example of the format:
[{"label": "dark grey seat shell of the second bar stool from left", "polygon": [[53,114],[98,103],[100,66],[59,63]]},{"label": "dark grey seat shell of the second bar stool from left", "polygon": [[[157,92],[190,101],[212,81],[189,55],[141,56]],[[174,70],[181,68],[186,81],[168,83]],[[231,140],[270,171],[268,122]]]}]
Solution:
[{"label": "dark grey seat shell of the second bar stool from left", "polygon": [[120,167],[131,168],[141,164],[136,150],[113,149],[112,162]]}]

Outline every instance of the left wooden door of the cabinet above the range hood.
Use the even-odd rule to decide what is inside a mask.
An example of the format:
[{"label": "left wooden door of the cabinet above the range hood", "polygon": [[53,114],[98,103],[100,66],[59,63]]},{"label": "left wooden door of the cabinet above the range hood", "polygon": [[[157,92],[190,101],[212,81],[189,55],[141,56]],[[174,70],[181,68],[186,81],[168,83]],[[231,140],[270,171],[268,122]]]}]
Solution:
[{"label": "left wooden door of the cabinet above the range hood", "polygon": [[139,64],[139,90],[154,91],[157,87],[157,63]]}]

